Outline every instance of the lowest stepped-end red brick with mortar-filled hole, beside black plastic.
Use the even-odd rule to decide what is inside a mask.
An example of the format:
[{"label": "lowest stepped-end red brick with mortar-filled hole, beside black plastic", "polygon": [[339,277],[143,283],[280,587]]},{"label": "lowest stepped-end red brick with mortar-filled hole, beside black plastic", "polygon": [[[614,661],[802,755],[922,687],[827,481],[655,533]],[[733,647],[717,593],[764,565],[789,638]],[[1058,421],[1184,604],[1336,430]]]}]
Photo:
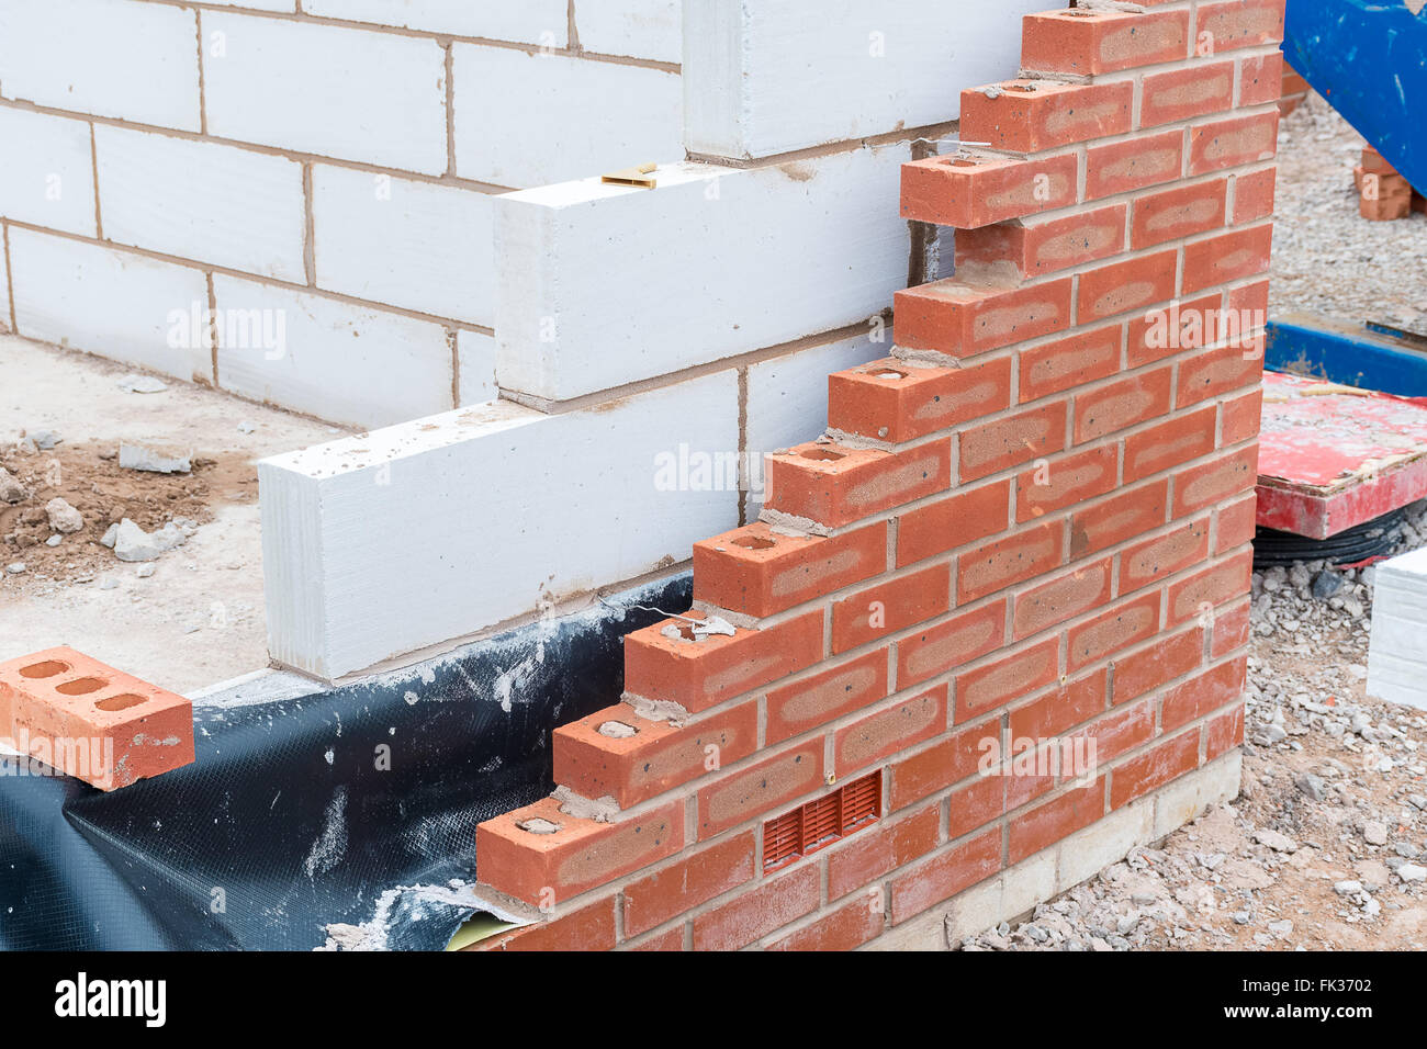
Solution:
[{"label": "lowest stepped-end red brick with mortar-filled hole, beside black plastic", "polygon": [[[554,824],[554,833],[532,833],[532,819]],[[665,805],[616,824],[577,819],[544,798],[488,819],[475,829],[481,881],[537,906],[561,902],[632,873],[684,846],[684,804]]]}]

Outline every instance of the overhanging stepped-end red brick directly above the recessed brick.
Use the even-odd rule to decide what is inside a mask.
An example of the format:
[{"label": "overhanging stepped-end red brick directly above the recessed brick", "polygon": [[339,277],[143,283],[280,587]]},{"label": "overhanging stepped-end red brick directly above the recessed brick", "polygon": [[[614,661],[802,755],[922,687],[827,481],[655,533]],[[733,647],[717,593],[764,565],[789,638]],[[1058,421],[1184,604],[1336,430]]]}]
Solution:
[{"label": "overhanging stepped-end red brick directly above the recessed brick", "polygon": [[963,150],[902,166],[902,217],[973,230],[1076,203],[1073,153],[1036,160]]}]

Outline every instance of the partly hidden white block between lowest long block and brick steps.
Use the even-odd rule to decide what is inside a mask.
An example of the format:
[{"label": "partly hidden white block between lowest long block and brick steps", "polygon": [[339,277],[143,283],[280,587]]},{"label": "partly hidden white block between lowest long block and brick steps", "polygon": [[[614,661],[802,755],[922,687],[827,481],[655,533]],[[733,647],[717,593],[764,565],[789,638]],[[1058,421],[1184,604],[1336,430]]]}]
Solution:
[{"label": "partly hidden white block between lowest long block and brick steps", "polygon": [[[763,502],[763,457],[812,441],[828,428],[828,375],[892,353],[892,330],[869,325],[866,335],[805,347],[748,365],[748,464],[759,481],[749,505]],[[880,338],[882,341],[875,341]],[[756,511],[751,510],[749,517]]]}]

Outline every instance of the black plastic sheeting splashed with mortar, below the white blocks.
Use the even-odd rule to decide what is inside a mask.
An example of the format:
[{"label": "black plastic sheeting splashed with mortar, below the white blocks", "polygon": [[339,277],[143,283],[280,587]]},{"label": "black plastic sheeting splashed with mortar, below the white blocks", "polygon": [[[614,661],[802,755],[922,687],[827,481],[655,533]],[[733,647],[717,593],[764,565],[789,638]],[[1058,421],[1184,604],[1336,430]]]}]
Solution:
[{"label": "black plastic sheeting splashed with mortar, below the white blocks", "polygon": [[[681,575],[609,604],[688,597]],[[194,765],[113,794],[0,762],[0,948],[311,951],[334,923],[445,948],[475,911],[477,824],[552,789],[551,729],[618,701],[621,638],[658,618],[595,608],[348,686],[230,689],[195,702]]]}]

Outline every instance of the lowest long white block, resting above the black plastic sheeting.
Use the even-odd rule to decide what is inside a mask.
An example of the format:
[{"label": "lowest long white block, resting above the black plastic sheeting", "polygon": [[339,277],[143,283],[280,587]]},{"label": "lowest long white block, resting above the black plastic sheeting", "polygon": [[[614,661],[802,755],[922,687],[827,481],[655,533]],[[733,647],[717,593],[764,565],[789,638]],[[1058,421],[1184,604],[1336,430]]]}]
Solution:
[{"label": "lowest long white block, resting above the black plastic sheeting", "polygon": [[732,371],[559,415],[495,401],[263,461],[273,658],[338,678],[688,559],[736,524],[736,495],[661,484],[676,441],[738,448]]}]

